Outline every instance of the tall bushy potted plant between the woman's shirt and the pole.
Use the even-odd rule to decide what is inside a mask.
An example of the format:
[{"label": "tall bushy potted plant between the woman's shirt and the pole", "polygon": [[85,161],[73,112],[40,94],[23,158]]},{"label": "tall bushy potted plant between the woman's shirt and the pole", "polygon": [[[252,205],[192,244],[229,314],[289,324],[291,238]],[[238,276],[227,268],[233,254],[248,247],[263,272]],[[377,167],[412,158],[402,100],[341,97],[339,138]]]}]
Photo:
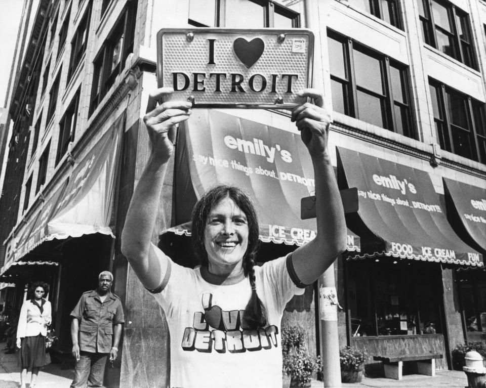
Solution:
[{"label": "tall bushy potted plant between the woman's shirt and the pole", "polygon": [[291,387],[310,386],[312,373],[321,367],[320,358],[307,352],[304,339],[305,331],[301,326],[282,325],[282,369],[285,386],[289,386],[289,383]]}]

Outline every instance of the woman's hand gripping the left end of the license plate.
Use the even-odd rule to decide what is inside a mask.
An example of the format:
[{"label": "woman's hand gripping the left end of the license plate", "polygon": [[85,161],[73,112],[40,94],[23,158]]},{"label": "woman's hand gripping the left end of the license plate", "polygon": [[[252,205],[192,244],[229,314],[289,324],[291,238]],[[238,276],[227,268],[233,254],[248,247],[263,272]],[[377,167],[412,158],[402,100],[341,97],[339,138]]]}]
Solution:
[{"label": "woman's hand gripping the left end of the license plate", "polygon": [[143,117],[152,145],[152,156],[161,162],[171,157],[175,140],[175,126],[189,118],[192,103],[188,101],[168,101],[159,105],[158,100],[171,94],[172,88],[159,88],[148,99],[147,114]]}]

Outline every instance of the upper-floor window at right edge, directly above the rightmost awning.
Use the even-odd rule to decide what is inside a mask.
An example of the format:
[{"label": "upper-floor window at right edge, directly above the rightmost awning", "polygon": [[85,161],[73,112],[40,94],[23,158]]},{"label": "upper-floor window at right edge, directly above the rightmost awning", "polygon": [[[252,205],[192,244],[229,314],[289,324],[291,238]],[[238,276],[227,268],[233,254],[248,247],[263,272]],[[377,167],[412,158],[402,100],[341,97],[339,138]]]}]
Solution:
[{"label": "upper-floor window at right edge, directly above the rightmost awning", "polygon": [[484,104],[435,80],[429,84],[440,148],[486,163]]}]

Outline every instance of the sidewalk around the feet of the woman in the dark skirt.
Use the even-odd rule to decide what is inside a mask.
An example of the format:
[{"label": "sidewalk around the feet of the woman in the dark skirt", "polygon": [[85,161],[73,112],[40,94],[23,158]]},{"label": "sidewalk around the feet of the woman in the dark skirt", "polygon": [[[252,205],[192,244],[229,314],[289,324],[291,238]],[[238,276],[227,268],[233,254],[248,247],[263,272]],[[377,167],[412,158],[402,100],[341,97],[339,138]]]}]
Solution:
[{"label": "sidewalk around the feet of the woman in the dark skirt", "polygon": [[[0,349],[5,342],[0,342]],[[0,388],[17,388],[20,385],[20,367],[18,353],[5,354],[0,350]],[[35,382],[35,388],[68,388],[74,377],[74,369],[61,369],[61,364],[48,364],[41,368]],[[27,374],[27,387],[30,372]]]}]

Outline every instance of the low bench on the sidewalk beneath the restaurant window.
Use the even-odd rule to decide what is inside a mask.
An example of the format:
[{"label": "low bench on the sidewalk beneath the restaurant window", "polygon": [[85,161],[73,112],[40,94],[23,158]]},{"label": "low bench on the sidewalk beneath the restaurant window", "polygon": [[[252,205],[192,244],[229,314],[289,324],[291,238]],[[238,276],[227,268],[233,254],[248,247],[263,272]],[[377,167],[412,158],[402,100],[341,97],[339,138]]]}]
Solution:
[{"label": "low bench on the sidewalk beneath the restaurant window", "polygon": [[440,358],[442,358],[441,354],[432,353],[410,356],[373,356],[373,360],[383,361],[385,377],[394,378],[395,380],[402,379],[402,368],[404,361],[416,362],[419,374],[435,376],[435,360]]}]

